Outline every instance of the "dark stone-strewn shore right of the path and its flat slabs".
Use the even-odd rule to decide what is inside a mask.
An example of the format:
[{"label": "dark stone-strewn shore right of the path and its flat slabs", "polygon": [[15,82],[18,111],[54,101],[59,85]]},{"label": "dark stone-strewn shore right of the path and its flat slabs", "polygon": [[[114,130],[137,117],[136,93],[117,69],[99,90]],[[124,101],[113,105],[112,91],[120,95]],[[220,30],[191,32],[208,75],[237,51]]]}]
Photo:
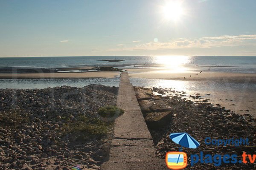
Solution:
[{"label": "dark stone-strewn shore right of the path and its flat slabs", "polygon": [[[198,154],[237,154],[241,160],[244,152],[256,154],[256,120],[250,114],[236,114],[220,105],[210,103],[210,99],[201,97],[200,94],[188,95],[186,92],[175,91],[174,89],[152,88],[156,94],[167,105],[172,107],[172,120],[168,125],[160,129],[150,129],[154,144],[157,148],[157,156],[165,159],[166,152],[178,151],[179,145],[169,138],[170,133],[187,132],[200,142],[197,149],[183,148],[188,154],[187,168],[192,170],[240,170],[256,169],[256,165],[248,164],[221,164],[216,167],[213,164],[190,165],[190,155]],[[207,94],[210,96],[210,94]],[[188,97],[188,98],[187,98]],[[235,147],[233,145],[215,146],[206,145],[204,139],[249,139],[248,145]]]}]

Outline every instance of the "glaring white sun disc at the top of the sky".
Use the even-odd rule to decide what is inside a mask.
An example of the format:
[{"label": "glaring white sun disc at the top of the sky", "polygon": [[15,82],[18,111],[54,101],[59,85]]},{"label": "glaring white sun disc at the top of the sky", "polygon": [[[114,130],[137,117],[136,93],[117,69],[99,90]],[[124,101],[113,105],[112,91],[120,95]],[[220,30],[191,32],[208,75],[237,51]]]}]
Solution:
[{"label": "glaring white sun disc at the top of the sky", "polygon": [[169,1],[162,7],[162,12],[166,20],[177,21],[184,14],[184,8],[180,1]]}]

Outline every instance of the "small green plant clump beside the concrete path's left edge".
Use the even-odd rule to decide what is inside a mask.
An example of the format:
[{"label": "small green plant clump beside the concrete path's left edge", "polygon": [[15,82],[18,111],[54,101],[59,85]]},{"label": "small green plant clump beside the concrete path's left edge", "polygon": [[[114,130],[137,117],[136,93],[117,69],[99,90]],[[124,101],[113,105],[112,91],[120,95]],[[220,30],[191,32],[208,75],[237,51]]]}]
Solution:
[{"label": "small green plant clump beside the concrete path's left edge", "polygon": [[125,111],[117,108],[116,106],[105,106],[105,107],[99,108],[98,113],[102,117],[113,117],[115,114],[119,116],[125,113]]}]

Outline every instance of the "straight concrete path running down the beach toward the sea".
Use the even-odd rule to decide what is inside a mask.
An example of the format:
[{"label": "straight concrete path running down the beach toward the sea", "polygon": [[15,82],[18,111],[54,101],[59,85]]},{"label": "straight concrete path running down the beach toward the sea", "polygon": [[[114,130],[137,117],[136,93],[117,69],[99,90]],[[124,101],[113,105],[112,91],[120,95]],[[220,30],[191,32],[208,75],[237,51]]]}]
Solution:
[{"label": "straight concrete path running down the beach toward the sea", "polygon": [[157,159],[128,73],[121,74],[116,105],[125,113],[115,120],[109,161],[102,164],[101,170],[167,169],[164,159]]}]

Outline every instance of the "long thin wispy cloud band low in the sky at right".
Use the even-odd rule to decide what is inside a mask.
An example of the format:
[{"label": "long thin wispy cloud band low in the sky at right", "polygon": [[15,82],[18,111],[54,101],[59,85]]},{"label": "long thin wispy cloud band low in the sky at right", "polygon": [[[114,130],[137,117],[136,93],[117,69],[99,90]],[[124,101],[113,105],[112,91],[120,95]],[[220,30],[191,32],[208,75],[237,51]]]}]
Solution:
[{"label": "long thin wispy cloud band low in the sky at right", "polygon": [[115,48],[110,49],[109,51],[155,50],[168,48],[210,48],[249,44],[256,44],[256,34],[236,36],[224,35],[219,37],[202,37],[199,39],[179,38],[169,40],[168,42],[147,42],[144,44],[135,45],[134,47]]}]

